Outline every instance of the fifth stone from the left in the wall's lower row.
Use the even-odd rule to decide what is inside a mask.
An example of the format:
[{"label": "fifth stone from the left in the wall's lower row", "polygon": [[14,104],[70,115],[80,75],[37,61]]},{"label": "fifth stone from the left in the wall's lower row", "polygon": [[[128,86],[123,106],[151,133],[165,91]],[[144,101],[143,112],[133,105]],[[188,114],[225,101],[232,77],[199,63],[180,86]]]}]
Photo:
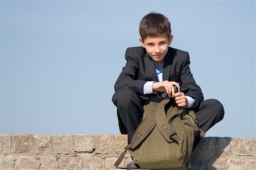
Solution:
[{"label": "fifth stone from the left in the wall's lower row", "polygon": [[82,157],[82,165],[84,165],[84,168],[102,168],[104,163],[104,159],[98,156],[93,157]]}]

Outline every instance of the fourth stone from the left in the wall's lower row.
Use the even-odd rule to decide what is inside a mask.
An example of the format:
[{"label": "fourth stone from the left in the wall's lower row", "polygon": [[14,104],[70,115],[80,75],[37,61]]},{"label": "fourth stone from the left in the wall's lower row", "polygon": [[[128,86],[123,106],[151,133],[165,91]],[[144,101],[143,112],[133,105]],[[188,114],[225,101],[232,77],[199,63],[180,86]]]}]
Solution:
[{"label": "fourth stone from the left in the wall's lower row", "polygon": [[58,162],[60,169],[82,168],[82,163],[79,157],[60,156]]}]

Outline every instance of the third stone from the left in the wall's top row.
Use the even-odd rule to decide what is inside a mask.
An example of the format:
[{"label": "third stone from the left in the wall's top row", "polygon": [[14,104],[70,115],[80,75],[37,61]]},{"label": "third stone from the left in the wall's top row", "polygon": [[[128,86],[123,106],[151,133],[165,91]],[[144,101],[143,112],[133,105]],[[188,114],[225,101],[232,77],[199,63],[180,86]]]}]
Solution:
[{"label": "third stone from the left in the wall's top row", "polygon": [[51,136],[34,135],[35,154],[49,154],[51,152]]}]

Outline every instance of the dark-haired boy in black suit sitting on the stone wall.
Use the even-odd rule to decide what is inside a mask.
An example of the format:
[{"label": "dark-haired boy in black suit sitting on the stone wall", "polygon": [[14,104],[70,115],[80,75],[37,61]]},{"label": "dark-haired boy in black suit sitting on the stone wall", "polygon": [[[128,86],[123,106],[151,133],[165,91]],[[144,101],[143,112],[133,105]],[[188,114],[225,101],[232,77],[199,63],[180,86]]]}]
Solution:
[{"label": "dark-haired boy in black suit sitting on the stone wall", "polygon": [[[121,134],[128,134],[128,143],[141,123],[143,106],[151,96],[167,92],[177,106],[192,107],[198,126],[203,131],[221,121],[224,109],[216,99],[204,101],[203,93],[189,69],[188,52],[171,48],[171,24],[166,16],[150,13],[139,24],[142,47],[127,48],[126,66],[115,82],[113,103]],[[180,88],[175,93],[174,86]]]}]

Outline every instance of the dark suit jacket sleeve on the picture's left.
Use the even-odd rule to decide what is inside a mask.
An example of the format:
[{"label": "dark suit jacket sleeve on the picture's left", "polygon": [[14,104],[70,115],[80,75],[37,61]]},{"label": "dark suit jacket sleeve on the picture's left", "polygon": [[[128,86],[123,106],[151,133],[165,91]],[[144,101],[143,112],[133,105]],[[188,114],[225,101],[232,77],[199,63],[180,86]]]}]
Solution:
[{"label": "dark suit jacket sleeve on the picture's left", "polygon": [[115,82],[115,92],[121,88],[131,88],[137,93],[143,93],[143,85],[146,80],[137,80],[139,57],[142,55],[143,52],[134,53],[133,48],[127,48],[125,53],[126,65]]}]

